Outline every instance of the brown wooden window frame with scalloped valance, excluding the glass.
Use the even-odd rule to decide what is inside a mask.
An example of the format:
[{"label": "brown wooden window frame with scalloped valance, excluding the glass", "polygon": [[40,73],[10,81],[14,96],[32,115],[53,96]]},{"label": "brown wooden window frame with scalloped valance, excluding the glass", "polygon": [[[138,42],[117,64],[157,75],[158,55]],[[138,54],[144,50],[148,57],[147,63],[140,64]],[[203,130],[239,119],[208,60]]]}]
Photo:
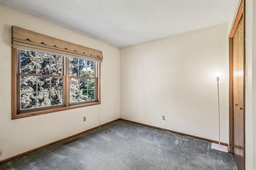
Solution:
[{"label": "brown wooden window frame with scalloped valance, excluding the glass", "polygon": [[[14,31],[15,29],[18,29],[18,31]],[[42,115],[46,113],[54,113],[58,111],[65,111],[65,110],[70,110],[70,109],[76,109],[80,107],[87,107],[87,106],[92,106],[92,105],[99,105],[100,104],[100,65],[101,61],[103,59],[102,57],[102,51],[90,49],[88,47],[83,47],[80,45],[76,45],[73,43],[69,42],[64,42],[63,40],[59,40],[56,38],[51,38],[48,36],[44,36],[39,33],[31,32],[29,30],[24,30],[22,28],[18,27],[12,27],[12,69],[11,69],[11,74],[12,74],[12,84],[11,84],[11,95],[12,95],[12,119],[19,119],[23,117],[30,117],[30,116],[35,116],[35,115]],[[24,32],[26,34],[31,33],[33,36],[36,34],[36,36],[39,36],[42,38],[42,40],[39,40],[38,42],[34,43],[33,41],[30,42],[29,36],[20,36],[21,38],[17,38],[18,36],[14,35],[17,34],[15,32],[18,32],[18,35],[22,35]],[[21,32],[21,33],[20,33]],[[25,37],[25,38],[24,38]],[[58,48],[57,45],[54,46],[54,50],[52,49],[52,46],[49,46],[50,48],[47,48],[47,45],[44,43],[44,39],[46,38],[51,38],[50,40],[55,40],[57,43],[60,43],[62,46],[61,48]],[[24,39],[24,40],[22,40]],[[21,44],[20,46],[17,46],[17,44]],[[27,44],[28,47],[26,46]],[[31,46],[32,44],[32,46]],[[66,45],[64,49],[63,44]],[[69,45],[72,46],[71,51],[68,50],[66,53]],[[41,48],[41,46],[43,46]],[[81,51],[77,52],[76,47],[84,50],[84,52],[80,53]],[[18,63],[18,50],[20,49],[26,49],[26,50],[31,50],[31,51],[39,51],[39,52],[44,52],[44,53],[50,53],[50,54],[56,54],[56,55],[62,55],[62,72],[63,72],[63,105],[56,105],[56,106],[49,106],[49,107],[42,107],[42,108],[36,108],[36,109],[28,109],[27,111],[20,111],[18,109],[18,106],[20,106],[18,101],[20,98],[17,95],[20,95],[20,83],[19,82],[19,76],[20,74],[18,73],[18,68],[19,64]],[[66,50],[66,51],[63,51]],[[74,51],[72,51],[74,50]],[[87,51],[86,51],[87,50]],[[71,55],[70,55],[71,53]],[[79,53],[79,54],[77,54]],[[95,100],[94,101],[86,101],[86,102],[78,102],[78,103],[70,103],[70,76],[69,76],[69,62],[68,59],[69,57],[74,57],[74,58],[80,58],[80,59],[86,59],[90,61],[94,61],[94,67],[95,67],[95,91],[94,91],[94,96]],[[64,59],[66,59],[66,65],[64,65]]]}]

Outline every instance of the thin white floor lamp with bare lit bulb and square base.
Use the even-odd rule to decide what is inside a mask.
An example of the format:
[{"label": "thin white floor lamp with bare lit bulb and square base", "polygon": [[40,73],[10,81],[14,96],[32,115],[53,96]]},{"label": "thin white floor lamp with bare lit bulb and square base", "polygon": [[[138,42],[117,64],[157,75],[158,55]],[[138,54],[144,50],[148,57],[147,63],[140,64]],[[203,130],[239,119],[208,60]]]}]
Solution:
[{"label": "thin white floor lamp with bare lit bulb and square base", "polygon": [[212,148],[216,150],[221,150],[224,152],[228,152],[228,146],[224,146],[220,144],[220,95],[219,95],[219,80],[220,80],[220,73],[217,72],[215,73],[216,80],[218,83],[218,109],[219,109],[219,144],[217,145],[216,143],[212,143]]}]

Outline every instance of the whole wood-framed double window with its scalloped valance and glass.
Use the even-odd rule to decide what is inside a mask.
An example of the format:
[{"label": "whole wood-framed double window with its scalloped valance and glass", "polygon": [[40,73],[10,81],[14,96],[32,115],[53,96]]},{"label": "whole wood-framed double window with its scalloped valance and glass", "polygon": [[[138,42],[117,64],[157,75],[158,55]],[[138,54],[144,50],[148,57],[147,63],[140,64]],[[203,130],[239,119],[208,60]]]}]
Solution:
[{"label": "whole wood-framed double window with its scalloped valance and glass", "polygon": [[[100,103],[101,51],[54,38],[51,42],[55,40],[56,45],[52,47],[46,45],[48,36],[12,29],[12,119]],[[29,36],[22,40],[17,35],[20,32],[37,34],[42,39],[40,45],[28,40]],[[58,48],[63,44],[65,48]],[[81,54],[76,48],[101,55]]]}]

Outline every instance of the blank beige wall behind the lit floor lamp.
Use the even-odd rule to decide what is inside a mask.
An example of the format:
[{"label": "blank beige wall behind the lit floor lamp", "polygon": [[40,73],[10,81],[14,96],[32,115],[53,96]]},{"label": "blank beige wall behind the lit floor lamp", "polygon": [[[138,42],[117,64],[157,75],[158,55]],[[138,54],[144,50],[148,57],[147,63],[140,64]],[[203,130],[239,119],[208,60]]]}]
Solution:
[{"label": "blank beige wall behind the lit floor lamp", "polygon": [[120,117],[228,143],[228,24],[121,49]]}]

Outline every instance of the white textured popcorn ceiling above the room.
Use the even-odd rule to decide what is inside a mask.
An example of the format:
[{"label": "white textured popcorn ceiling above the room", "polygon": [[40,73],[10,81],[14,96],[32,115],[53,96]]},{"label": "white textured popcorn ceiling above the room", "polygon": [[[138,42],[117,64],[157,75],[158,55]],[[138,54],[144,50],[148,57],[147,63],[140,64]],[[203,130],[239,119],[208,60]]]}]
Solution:
[{"label": "white textured popcorn ceiling above the room", "polygon": [[126,47],[228,22],[233,0],[0,0],[0,4]]}]

